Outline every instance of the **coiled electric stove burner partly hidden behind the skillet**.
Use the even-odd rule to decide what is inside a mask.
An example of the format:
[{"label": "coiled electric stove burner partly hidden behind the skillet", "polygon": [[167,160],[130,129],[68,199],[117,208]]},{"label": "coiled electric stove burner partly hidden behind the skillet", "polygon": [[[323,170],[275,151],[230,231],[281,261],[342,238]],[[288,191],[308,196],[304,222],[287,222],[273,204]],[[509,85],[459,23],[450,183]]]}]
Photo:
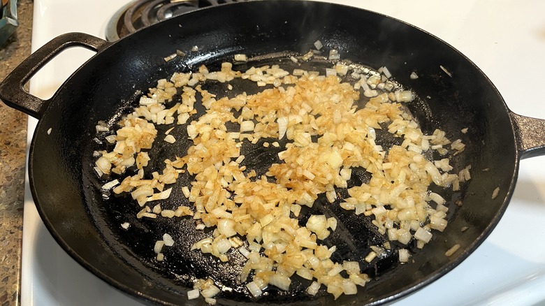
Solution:
[{"label": "coiled electric stove burner partly hidden behind the skillet", "polygon": [[106,27],[106,39],[117,41],[138,29],[183,13],[246,0],[136,0],[115,13]]}]

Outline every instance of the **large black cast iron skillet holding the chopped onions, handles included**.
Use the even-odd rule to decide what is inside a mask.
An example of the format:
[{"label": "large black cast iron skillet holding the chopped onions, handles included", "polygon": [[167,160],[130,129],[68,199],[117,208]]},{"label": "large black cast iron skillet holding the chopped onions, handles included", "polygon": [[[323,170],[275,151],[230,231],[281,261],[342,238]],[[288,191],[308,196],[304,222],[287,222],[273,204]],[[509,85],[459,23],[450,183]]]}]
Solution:
[{"label": "large black cast iron skillet holding the chopped onions, handles included", "polygon": [[[430,34],[390,17],[330,3],[310,1],[256,1],[206,8],[153,25],[116,43],[106,43],[86,34],[54,38],[25,60],[0,85],[4,103],[40,119],[29,155],[29,178],[38,212],[68,254],[95,275],[131,296],[165,305],[203,305],[202,299],[187,300],[187,288],[195,277],[210,275],[232,291],[217,296],[221,305],[268,303],[279,305],[329,305],[333,298],[321,292],[308,298],[301,292],[309,282],[294,279],[291,291],[250,300],[236,281],[242,267],[240,255],[220,264],[215,258],[190,252],[189,246],[206,235],[194,229],[191,219],[138,220],[138,205],[124,197],[104,198],[104,183],[92,166],[94,150],[103,150],[94,138],[103,139],[95,126],[104,120],[115,128],[119,116],[129,112],[145,91],[160,78],[175,71],[189,71],[207,64],[217,68],[233,54],[251,57],[269,54],[250,64],[271,64],[275,52],[305,53],[320,40],[325,50],[335,48],[342,58],[378,68],[387,66],[395,80],[419,95],[410,104],[426,133],[438,128],[451,140],[462,138],[465,152],[452,156],[455,170],[472,166],[472,180],[458,193],[441,191],[450,207],[449,226],[435,233],[423,251],[412,249],[414,263],[398,265],[395,245],[388,256],[362,265],[372,281],[356,296],[342,296],[338,305],[387,303],[430,284],[463,261],[491,233],[511,198],[518,162],[543,154],[545,122],[511,112],[490,80],[460,52]],[[187,52],[165,62],[176,50]],[[59,52],[73,46],[96,51],[96,55],[73,73],[49,100],[24,92],[22,85]],[[249,66],[249,65],[248,65]],[[443,66],[451,76],[442,71]],[[235,66],[244,69],[247,66]],[[417,71],[419,78],[409,80]],[[210,85],[214,87],[215,85]],[[219,85],[218,85],[219,86]],[[221,92],[221,87],[214,90]],[[460,132],[468,128],[466,134]],[[184,126],[175,133],[183,136]],[[182,139],[182,137],[177,137]],[[157,146],[152,154],[173,158],[188,142],[174,147]],[[247,165],[263,171],[275,152],[247,147]],[[356,175],[365,181],[365,171]],[[182,177],[172,198],[163,207],[185,203],[180,186],[191,182]],[[352,182],[354,184],[358,182]],[[492,198],[493,190],[499,194]],[[456,201],[463,205],[458,207]],[[344,212],[338,205],[318,201],[314,210],[340,222],[324,243],[339,247],[335,261],[359,260],[369,246],[384,241],[369,220]],[[314,212],[312,212],[314,213]],[[304,219],[304,218],[303,218]],[[119,224],[131,223],[128,231]],[[304,221],[304,220],[303,220]],[[467,227],[467,231],[460,228]],[[166,260],[154,261],[153,245],[163,233],[174,234],[175,247]],[[459,244],[453,256],[444,255]]]}]

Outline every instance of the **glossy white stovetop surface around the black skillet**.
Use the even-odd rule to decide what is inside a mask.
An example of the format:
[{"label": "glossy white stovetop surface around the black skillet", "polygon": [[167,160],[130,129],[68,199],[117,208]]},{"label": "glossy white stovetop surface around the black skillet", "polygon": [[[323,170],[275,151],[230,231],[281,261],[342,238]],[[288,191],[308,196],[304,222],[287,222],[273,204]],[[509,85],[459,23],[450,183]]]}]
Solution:
[{"label": "glossy white stovetop surface around the black skillet", "polygon": [[[104,38],[129,0],[34,0],[33,51],[70,31]],[[545,118],[545,1],[338,0],[420,27],[450,43],[491,78],[509,108]],[[357,27],[357,24],[354,24]],[[63,52],[31,80],[52,96],[93,52]],[[29,135],[36,119],[29,120]],[[544,131],[545,133],[545,131]],[[29,137],[30,139],[30,137]],[[545,305],[545,156],[521,162],[507,212],[467,260],[395,305]],[[82,268],[43,225],[28,183],[24,203],[22,305],[138,305]]]}]

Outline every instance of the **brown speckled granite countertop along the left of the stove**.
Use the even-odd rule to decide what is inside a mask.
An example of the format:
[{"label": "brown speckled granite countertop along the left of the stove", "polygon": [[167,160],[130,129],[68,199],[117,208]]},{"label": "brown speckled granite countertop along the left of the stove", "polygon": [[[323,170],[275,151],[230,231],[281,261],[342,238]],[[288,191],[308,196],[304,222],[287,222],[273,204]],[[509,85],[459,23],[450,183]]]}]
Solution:
[{"label": "brown speckled granite countertop along the left of the stove", "polygon": [[[0,48],[0,80],[29,56],[31,0],[19,0],[19,27]],[[20,305],[27,115],[0,103],[0,305]]]}]

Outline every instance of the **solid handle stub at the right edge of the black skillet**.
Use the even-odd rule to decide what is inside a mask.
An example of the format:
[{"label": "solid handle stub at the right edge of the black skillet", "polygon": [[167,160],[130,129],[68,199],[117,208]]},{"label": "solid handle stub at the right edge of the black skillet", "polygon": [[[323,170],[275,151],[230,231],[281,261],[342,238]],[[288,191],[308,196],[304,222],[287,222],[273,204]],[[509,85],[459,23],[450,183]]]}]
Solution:
[{"label": "solid handle stub at the right edge of the black skillet", "polygon": [[514,123],[521,159],[545,155],[545,119],[525,117],[509,112]]}]

